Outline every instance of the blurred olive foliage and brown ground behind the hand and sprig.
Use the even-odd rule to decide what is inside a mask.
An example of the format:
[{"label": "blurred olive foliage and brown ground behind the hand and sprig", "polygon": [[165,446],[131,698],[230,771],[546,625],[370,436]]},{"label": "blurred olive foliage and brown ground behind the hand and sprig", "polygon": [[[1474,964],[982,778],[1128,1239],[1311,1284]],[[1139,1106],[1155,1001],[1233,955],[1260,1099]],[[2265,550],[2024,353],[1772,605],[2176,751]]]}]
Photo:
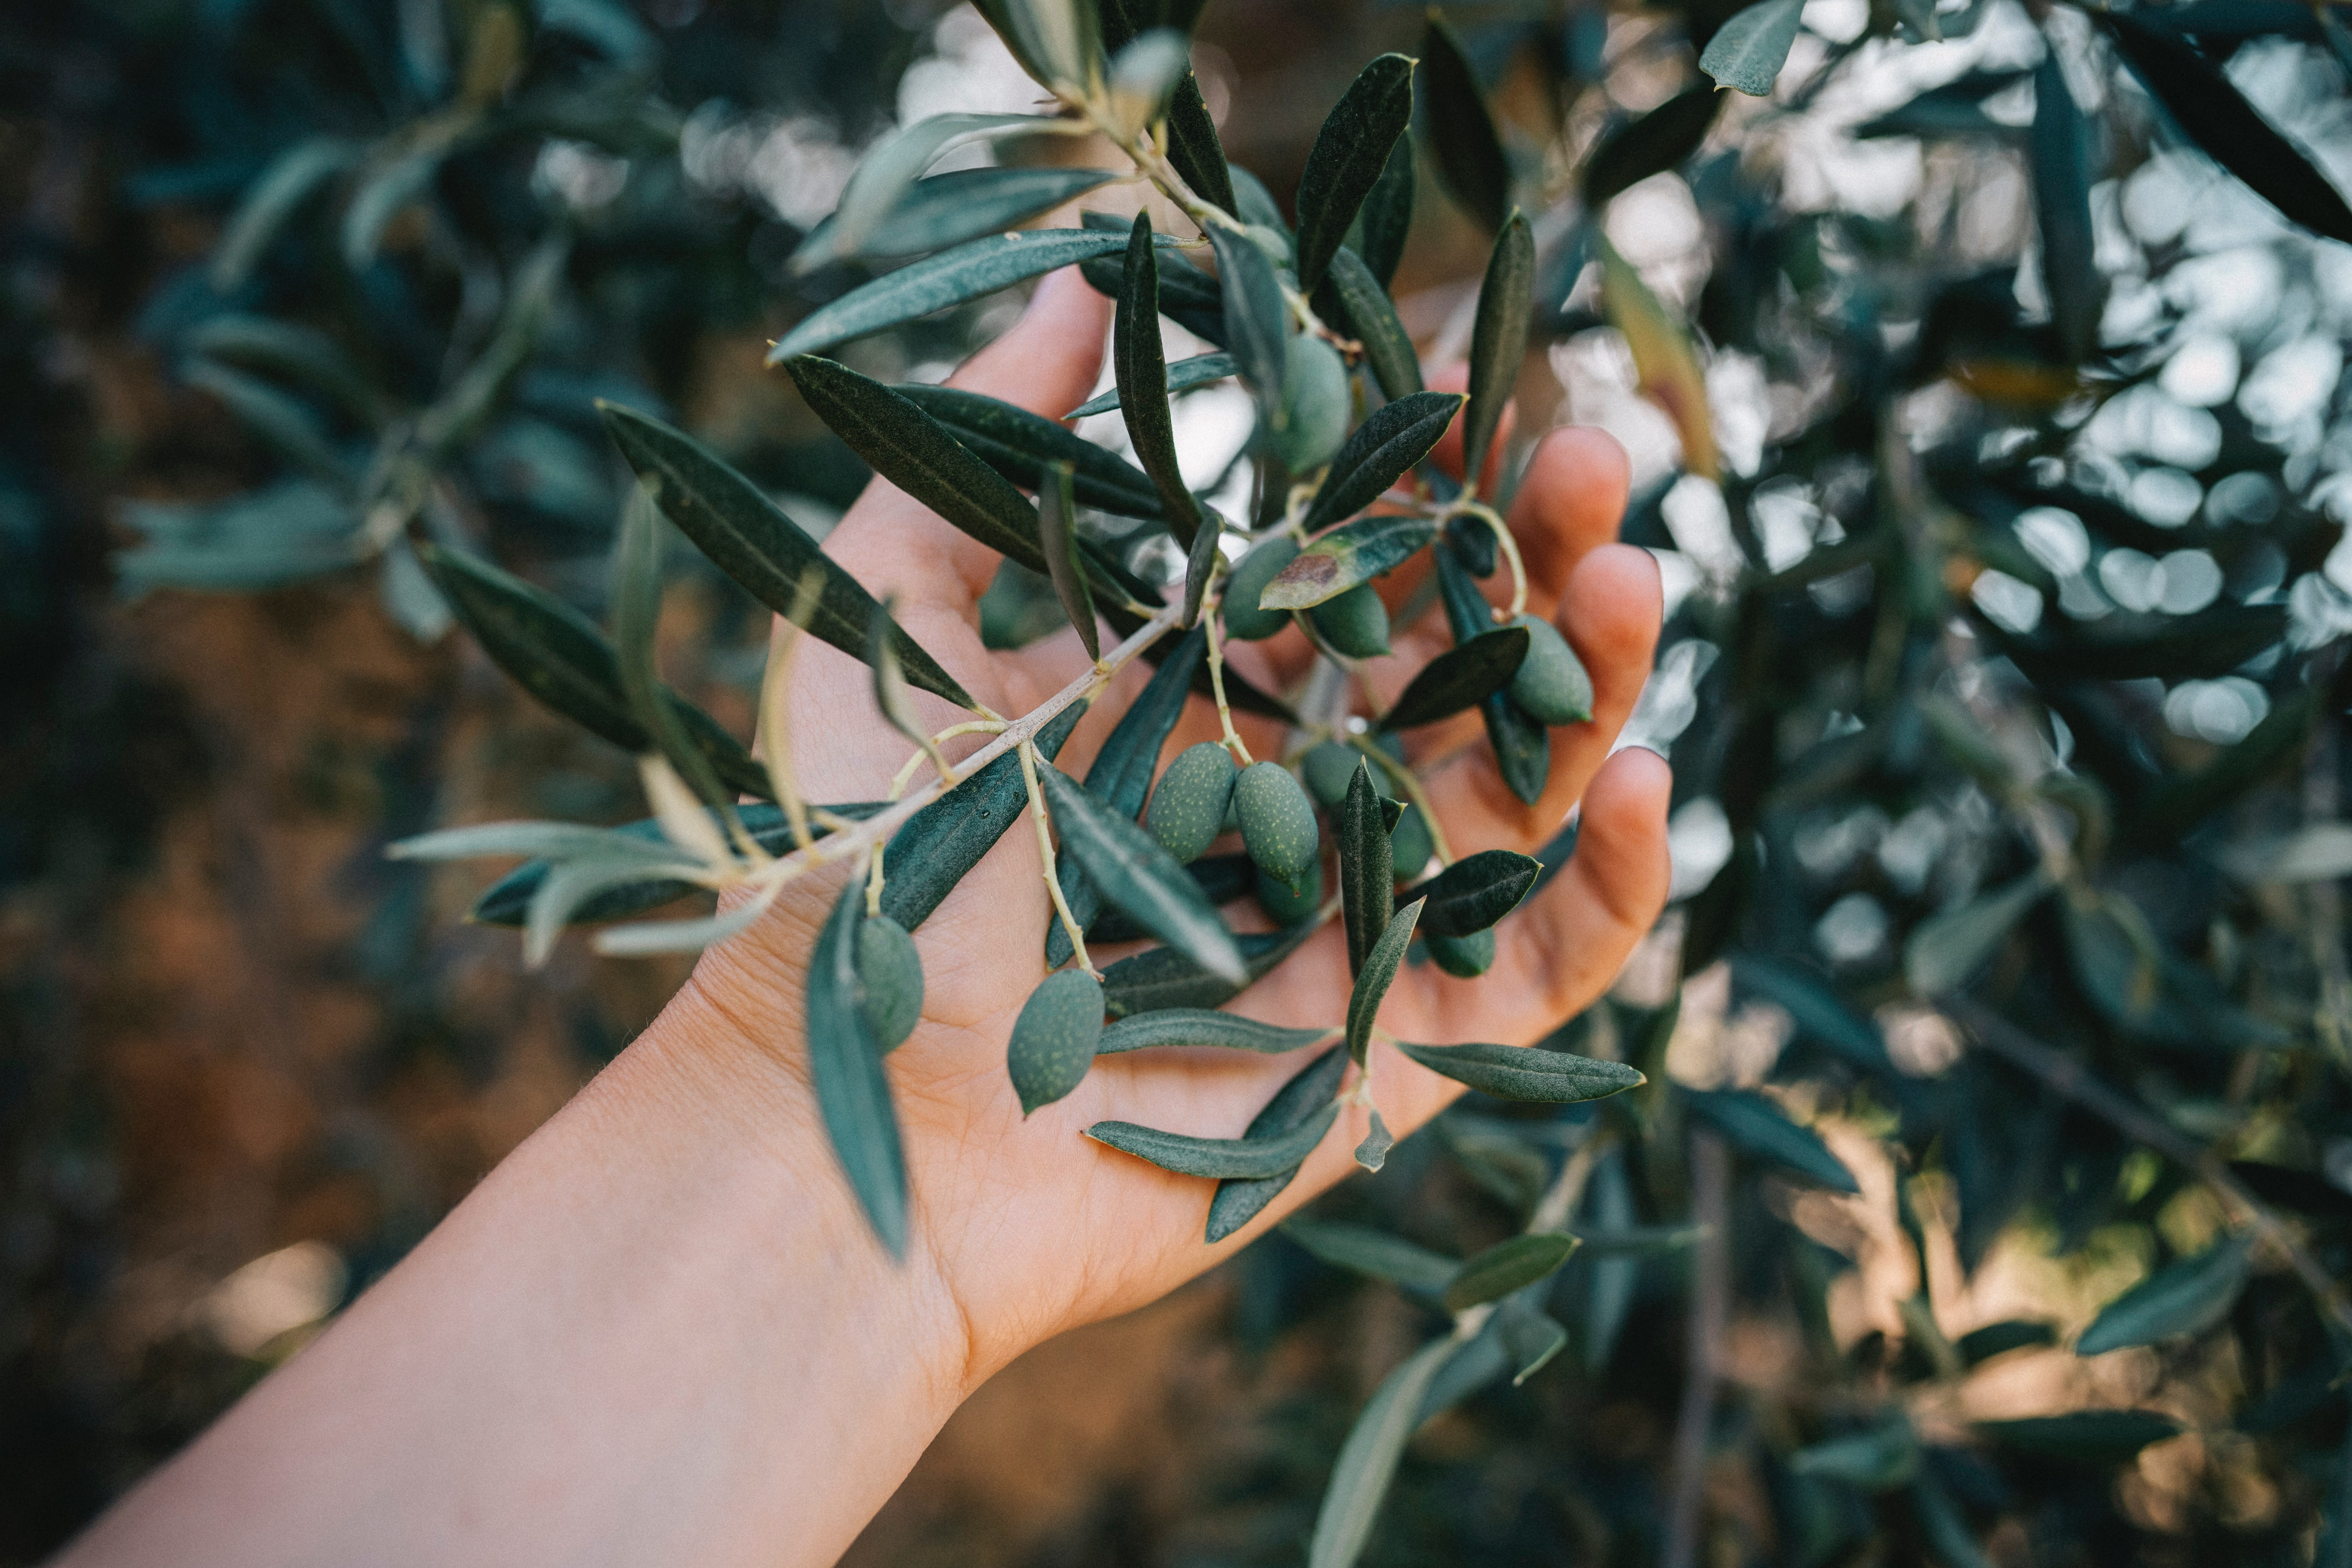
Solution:
[{"label": "blurred olive foliage and brown ground behind the hand and sprig", "polygon": [[[1522,437],[1613,430],[1665,571],[1632,731],[1677,903],[1564,1020],[1637,1105],[1465,1105],[1322,1206],[1458,1255],[1550,1192],[1656,1241],[1557,1276],[1569,1349],[1423,1429],[1367,1561],[2352,1561],[2352,252],[2305,228],[2343,202],[2288,223],[2220,167],[2263,146],[2084,12],[1811,0],[1743,99],[1696,71],[1731,9],[1449,12],[1541,214]],[[2331,9],[2133,16],[2352,169]],[[1421,26],[1211,0],[1232,160],[1284,197]],[[524,973],[473,886],[381,858],[637,813],[449,635],[412,529],[595,614],[607,395],[837,512],[863,470],[760,355],[858,273],[783,263],[889,127],[1035,89],[920,0],[73,0],[0,24],[0,1561],[35,1561],[682,978]],[[1397,280],[1432,364],[1486,254],[1442,153]],[[861,369],[936,378],[1016,308]],[[1181,437],[1207,484],[1247,397]],[[666,668],[748,729],[764,621],[677,569]],[[1298,1561],[1428,1321],[1270,1239],[983,1389],[854,1561]]]}]

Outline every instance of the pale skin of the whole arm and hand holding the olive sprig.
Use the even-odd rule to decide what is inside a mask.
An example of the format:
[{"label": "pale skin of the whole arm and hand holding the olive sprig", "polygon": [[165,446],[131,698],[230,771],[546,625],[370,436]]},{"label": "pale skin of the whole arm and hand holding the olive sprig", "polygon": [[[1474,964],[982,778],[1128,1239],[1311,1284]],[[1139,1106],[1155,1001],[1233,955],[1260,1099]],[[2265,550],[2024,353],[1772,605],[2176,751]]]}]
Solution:
[{"label": "pale skin of the whole arm and hand holding the olive sprig", "polygon": [[[1049,277],[957,383],[1061,414],[1094,390],[1105,324],[1084,282]],[[1623,503],[1609,437],[1557,430],[1538,444],[1512,529],[1529,609],[1555,616],[1590,668],[1595,719],[1552,731],[1534,809],[1503,788],[1470,715],[1418,731],[1414,757],[1439,759],[1428,790],[1458,853],[1534,851],[1576,804],[1583,830],[1566,870],[1501,926],[1489,976],[1397,978],[1381,1023],[1399,1039],[1541,1039],[1609,985],[1665,900],[1668,769],[1646,750],[1609,755],[1658,635],[1656,567],[1613,543]],[[1070,632],[983,651],[974,602],[995,557],[887,484],[826,548],[873,592],[896,592],[908,632],[997,712],[1025,712],[1084,670]],[[1381,696],[1446,642],[1442,616],[1399,630],[1397,658],[1369,668]],[[1232,649],[1270,689],[1305,658],[1296,632]],[[1143,675],[1122,672],[1063,769],[1084,773]],[[847,656],[802,649],[790,724],[811,799],[873,799],[906,762],[866,682]],[[967,717],[922,701],[941,726]],[[1216,733],[1195,701],[1169,755]],[[1242,733],[1258,757],[1282,750],[1272,724],[1244,717]],[[1305,1056],[1108,1058],[1068,1100],[1021,1117],[1004,1041],[1044,973],[1047,924],[1035,835],[1021,830],[917,933],[924,1018],[889,1058],[913,1237],[891,1262],[833,1164],[804,1067],[807,952],[837,877],[790,889],[706,954],[661,1018],[400,1267],[59,1561],[830,1563],[990,1373],[1164,1295],[1352,1171],[1362,1110],[1249,1229],[1204,1246],[1209,1182],[1082,1138],[1105,1117],[1237,1135]],[[1331,1025],[1345,997],[1334,924],[1235,1011]],[[1399,1135],[1458,1093],[1385,1046],[1371,1074]]]}]

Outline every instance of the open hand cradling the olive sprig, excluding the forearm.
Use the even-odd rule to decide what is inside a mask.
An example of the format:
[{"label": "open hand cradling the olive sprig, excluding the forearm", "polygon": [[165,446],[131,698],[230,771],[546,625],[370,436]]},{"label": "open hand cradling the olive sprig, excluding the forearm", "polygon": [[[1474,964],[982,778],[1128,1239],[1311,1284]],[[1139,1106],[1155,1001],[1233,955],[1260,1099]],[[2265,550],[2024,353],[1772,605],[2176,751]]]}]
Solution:
[{"label": "open hand cradling the olive sprig, excluding the forearm", "polygon": [[[1061,414],[1094,388],[1108,313],[1108,301],[1075,273],[1058,273],[1040,287],[1021,324],[976,355],[953,386]],[[1449,451],[1458,463],[1458,430],[1439,447],[1439,461]],[[1402,1039],[1541,1039],[1599,994],[1665,900],[1668,769],[1646,750],[1609,755],[1649,675],[1661,607],[1649,555],[1613,543],[1623,505],[1618,447],[1592,430],[1555,430],[1538,447],[1512,508],[1529,609],[1555,618],[1595,686],[1592,722],[1552,736],[1543,799],[1526,806],[1510,792],[1475,712],[1409,736],[1437,818],[1463,851],[1536,851],[1578,802],[1583,827],[1562,875],[1496,931],[1498,957],[1486,976],[1456,980],[1437,966],[1399,971],[1381,1018]],[[1087,670],[1087,654],[1068,630],[1018,651],[983,649],[978,597],[995,576],[997,555],[880,480],[826,550],[877,597],[896,595],[901,625],[997,712],[1028,712]],[[1409,569],[1381,588],[1397,604],[1411,585]],[[1446,646],[1442,616],[1399,628],[1395,656],[1367,665],[1369,684],[1381,701],[1392,701]],[[1263,644],[1235,644],[1228,658],[1256,684],[1279,691],[1305,670],[1312,651],[1287,630]],[[1148,670],[1131,665],[1112,682],[1080,722],[1061,757],[1063,771],[1084,776],[1145,677]],[[868,672],[849,656],[816,644],[802,651],[788,724],[809,799],[875,799],[906,762],[903,736],[875,717],[868,689]],[[917,701],[941,729],[962,717],[938,698]],[[1237,715],[1237,724],[1254,755],[1282,752],[1279,724],[1247,715]],[[1195,698],[1167,755],[1218,733],[1214,708]],[[964,750],[976,745],[967,741]],[[1004,1044],[1044,976],[1049,907],[1040,870],[1035,835],[1007,832],[922,924],[915,943],[924,1013],[889,1058],[913,1187],[903,1267],[960,1335],[960,1366],[946,1375],[960,1378],[964,1389],[1021,1349],[1155,1300],[1228,1258],[1345,1178],[1350,1147],[1364,1135],[1364,1112],[1348,1110],[1268,1213],[1235,1239],[1204,1246],[1211,1182],[1171,1175],[1082,1131],[1122,1119],[1240,1135],[1305,1053],[1105,1058],[1065,1100],[1023,1119]],[[684,1053],[699,1065],[694,1079],[717,1091],[717,1105],[793,1119],[804,1131],[797,1175],[847,1201],[816,1128],[802,1044],[807,954],[835,891],[833,879],[795,884],[760,924],[706,954],[668,1027],[682,1034]],[[1117,952],[1098,961],[1110,957]],[[1334,922],[1247,990],[1232,1011],[1277,1025],[1329,1027],[1343,1018],[1348,992],[1345,938]],[[1458,1084],[1378,1046],[1371,1077],[1381,1114],[1397,1135],[1461,1093]],[[875,1253],[880,1258],[880,1248]]]}]

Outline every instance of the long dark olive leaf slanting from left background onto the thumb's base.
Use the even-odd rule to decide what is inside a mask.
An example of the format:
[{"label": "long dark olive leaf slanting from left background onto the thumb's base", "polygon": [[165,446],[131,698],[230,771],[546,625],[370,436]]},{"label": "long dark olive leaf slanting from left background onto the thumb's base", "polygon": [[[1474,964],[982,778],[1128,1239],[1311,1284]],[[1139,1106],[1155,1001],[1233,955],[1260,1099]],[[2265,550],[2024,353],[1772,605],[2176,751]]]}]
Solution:
[{"label": "long dark olive leaf slanting from left background onto the thumb's base", "polygon": [[[600,402],[597,411],[654,503],[696,550],[710,557],[713,567],[779,616],[802,614],[800,585],[814,569],[818,590],[802,630],[851,658],[866,658],[873,595],[818,550],[816,541],[767,498],[767,491],[684,430],[614,402]],[[903,628],[891,623],[889,630],[891,651],[908,682],[957,708],[976,708],[955,677],[941,670]]]}]

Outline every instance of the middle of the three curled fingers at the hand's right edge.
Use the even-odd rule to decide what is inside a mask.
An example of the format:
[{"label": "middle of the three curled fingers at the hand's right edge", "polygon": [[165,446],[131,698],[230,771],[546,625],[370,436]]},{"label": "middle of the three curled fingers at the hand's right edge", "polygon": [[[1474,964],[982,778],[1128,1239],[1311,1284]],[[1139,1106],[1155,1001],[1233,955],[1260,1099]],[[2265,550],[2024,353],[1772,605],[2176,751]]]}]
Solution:
[{"label": "middle of the three curled fingers at the hand's right edge", "polygon": [[1592,719],[1552,729],[1552,769],[1536,804],[1503,783],[1475,712],[1414,733],[1409,750],[1416,757],[1458,748],[1425,780],[1449,842],[1538,849],[1559,830],[1642,696],[1658,651],[1661,604],[1658,562],[1649,550],[1602,545],[1576,567],[1552,625],[1592,675]]}]

